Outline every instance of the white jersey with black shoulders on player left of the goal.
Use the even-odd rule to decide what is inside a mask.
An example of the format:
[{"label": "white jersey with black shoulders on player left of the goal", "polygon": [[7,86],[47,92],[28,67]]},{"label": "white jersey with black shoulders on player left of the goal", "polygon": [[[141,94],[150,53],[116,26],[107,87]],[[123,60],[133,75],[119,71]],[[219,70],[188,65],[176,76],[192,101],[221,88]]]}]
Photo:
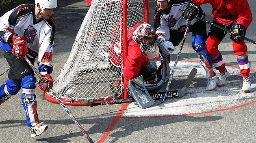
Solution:
[{"label": "white jersey with black shoulders on player left of the goal", "polygon": [[50,19],[35,17],[35,5],[22,4],[0,17],[0,34],[11,32],[24,36],[28,48],[38,54],[39,65],[52,67],[52,51],[56,24]]}]

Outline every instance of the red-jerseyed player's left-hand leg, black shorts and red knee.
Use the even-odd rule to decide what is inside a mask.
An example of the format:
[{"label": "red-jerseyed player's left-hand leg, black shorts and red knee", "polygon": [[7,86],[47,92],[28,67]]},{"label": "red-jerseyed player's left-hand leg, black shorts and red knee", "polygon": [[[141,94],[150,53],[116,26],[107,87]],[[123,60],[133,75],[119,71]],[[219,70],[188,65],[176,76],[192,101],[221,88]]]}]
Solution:
[{"label": "red-jerseyed player's left-hand leg, black shorts and red knee", "polygon": [[[225,27],[227,29],[230,29],[232,27],[232,24],[227,26],[217,22],[213,23],[221,25],[222,27]],[[227,32],[212,25],[210,27],[210,32],[208,33],[208,39],[206,41],[206,48],[213,61],[213,65],[220,72],[217,86],[224,86],[226,84],[226,78],[229,76],[229,72],[225,67],[226,64],[224,63],[222,55],[218,50],[218,46],[226,34]]]}]

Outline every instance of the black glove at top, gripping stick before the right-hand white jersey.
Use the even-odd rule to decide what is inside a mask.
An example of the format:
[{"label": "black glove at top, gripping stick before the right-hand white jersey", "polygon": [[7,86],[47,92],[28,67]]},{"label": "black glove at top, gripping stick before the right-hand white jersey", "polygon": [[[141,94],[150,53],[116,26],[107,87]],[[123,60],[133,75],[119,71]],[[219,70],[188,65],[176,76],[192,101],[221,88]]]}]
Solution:
[{"label": "black glove at top, gripping stick before the right-hand white jersey", "polygon": [[194,19],[194,16],[199,13],[199,6],[194,3],[189,3],[182,12],[184,19],[191,21]]}]

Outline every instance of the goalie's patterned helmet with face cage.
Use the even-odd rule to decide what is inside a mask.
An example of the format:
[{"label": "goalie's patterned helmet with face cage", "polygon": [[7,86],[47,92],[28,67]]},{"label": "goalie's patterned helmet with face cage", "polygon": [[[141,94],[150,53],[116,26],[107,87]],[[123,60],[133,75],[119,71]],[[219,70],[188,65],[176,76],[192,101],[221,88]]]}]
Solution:
[{"label": "goalie's patterned helmet with face cage", "polygon": [[132,34],[132,39],[135,40],[141,49],[141,52],[148,59],[156,57],[156,32],[148,23],[139,25]]}]

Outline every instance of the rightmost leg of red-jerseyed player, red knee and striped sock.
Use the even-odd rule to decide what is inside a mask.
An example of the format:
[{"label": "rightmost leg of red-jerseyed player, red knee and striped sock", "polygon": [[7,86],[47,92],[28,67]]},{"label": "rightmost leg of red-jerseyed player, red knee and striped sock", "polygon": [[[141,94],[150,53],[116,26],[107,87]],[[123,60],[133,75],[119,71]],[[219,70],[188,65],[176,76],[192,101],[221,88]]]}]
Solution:
[{"label": "rightmost leg of red-jerseyed player, red knee and striped sock", "polygon": [[239,42],[232,41],[233,52],[236,54],[236,60],[240,67],[240,73],[243,77],[243,92],[250,92],[251,90],[251,82],[249,78],[250,65],[249,59],[247,55],[247,46],[245,45],[244,40],[240,40]]}]

